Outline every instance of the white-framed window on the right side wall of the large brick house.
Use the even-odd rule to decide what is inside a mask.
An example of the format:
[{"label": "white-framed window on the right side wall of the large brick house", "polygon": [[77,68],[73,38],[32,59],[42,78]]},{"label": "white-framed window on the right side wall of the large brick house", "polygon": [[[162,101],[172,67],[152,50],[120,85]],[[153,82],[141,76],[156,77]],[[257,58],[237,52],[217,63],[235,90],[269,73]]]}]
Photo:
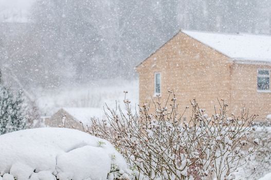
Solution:
[{"label": "white-framed window on the right side wall of the large brick house", "polygon": [[270,72],[266,69],[258,70],[257,88],[259,91],[270,90]]}]

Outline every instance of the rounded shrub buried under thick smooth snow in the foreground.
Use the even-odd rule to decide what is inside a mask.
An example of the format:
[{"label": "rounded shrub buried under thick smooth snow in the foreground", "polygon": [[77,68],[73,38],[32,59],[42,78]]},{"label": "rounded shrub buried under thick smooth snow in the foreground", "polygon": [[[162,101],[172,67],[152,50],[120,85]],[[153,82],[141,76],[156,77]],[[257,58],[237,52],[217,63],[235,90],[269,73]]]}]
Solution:
[{"label": "rounded shrub buried under thick smooth snow in the foreground", "polygon": [[0,144],[0,179],[129,179],[110,142],[78,130],[16,131],[1,135]]}]

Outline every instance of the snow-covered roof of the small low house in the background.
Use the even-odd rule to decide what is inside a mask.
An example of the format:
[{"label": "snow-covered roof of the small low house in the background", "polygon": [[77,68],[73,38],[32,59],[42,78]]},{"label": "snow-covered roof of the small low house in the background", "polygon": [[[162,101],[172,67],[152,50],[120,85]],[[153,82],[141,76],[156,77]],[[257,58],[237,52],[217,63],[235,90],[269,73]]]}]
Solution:
[{"label": "snow-covered roof of the small low house in the background", "polygon": [[82,121],[83,124],[89,124],[91,118],[102,119],[104,111],[95,107],[64,107],[62,108],[68,114]]}]

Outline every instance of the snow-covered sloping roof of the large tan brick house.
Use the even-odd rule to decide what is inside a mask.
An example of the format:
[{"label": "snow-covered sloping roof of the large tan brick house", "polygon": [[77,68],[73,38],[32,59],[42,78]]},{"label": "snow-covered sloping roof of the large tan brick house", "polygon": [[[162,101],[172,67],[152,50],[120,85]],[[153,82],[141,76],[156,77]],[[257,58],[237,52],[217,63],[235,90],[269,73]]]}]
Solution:
[{"label": "snow-covered sloping roof of the large tan brick house", "polygon": [[182,30],[182,32],[234,60],[271,62],[270,35],[192,30]]}]

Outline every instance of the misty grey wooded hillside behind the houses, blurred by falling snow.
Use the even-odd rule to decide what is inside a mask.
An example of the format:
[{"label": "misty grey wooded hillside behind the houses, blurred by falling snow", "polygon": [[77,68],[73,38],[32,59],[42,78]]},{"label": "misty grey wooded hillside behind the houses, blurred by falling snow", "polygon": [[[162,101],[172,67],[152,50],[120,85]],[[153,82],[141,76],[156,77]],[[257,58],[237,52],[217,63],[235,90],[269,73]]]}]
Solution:
[{"label": "misty grey wooded hillside behind the houses, blurred by falling snow", "polygon": [[45,91],[131,82],[134,67],[179,29],[269,34],[271,1],[0,0],[0,22],[5,83],[35,101]]}]

